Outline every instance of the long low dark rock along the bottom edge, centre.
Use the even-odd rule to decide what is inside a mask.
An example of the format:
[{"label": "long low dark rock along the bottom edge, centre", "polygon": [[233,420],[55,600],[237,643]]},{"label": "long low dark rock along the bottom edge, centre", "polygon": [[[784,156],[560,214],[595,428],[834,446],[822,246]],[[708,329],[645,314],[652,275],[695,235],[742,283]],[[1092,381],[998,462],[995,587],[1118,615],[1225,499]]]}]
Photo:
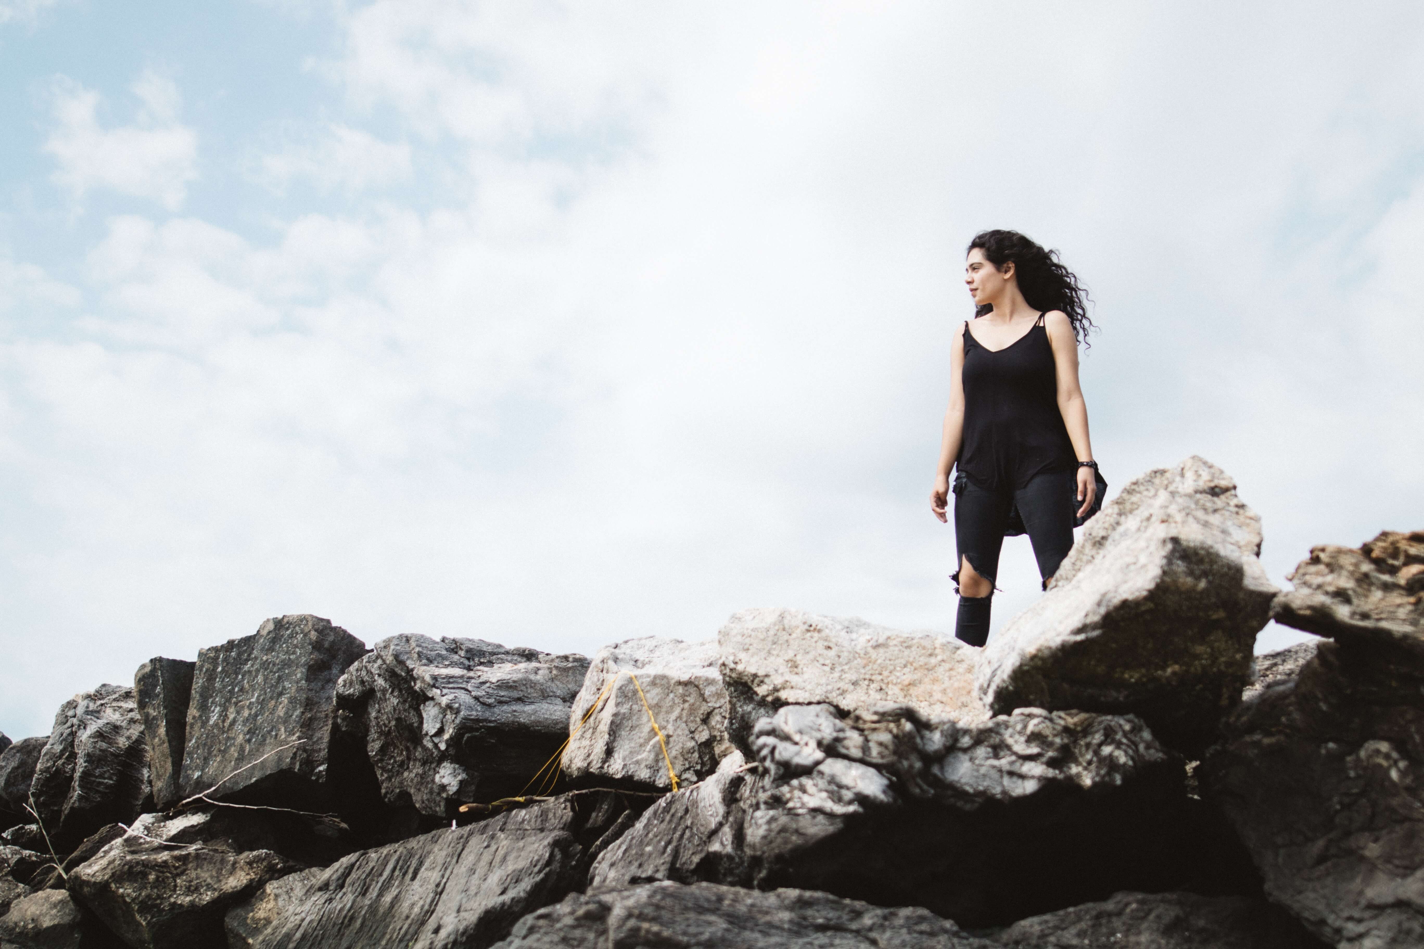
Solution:
[{"label": "long low dark rock along the bottom edge, centre", "polygon": [[927,909],[803,889],[656,884],[574,894],[521,919],[500,949],[991,949]]}]

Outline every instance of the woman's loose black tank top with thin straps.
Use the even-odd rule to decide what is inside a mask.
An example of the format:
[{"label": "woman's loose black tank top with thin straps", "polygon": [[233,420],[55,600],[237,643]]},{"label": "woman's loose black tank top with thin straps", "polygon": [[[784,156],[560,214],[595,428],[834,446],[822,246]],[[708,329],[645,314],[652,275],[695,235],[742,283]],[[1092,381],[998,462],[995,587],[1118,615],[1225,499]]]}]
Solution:
[{"label": "woman's loose black tank top with thin straps", "polygon": [[964,323],[964,440],[958,468],[985,488],[1017,489],[1078,455],[1058,411],[1054,347],[1044,317],[990,351]]}]

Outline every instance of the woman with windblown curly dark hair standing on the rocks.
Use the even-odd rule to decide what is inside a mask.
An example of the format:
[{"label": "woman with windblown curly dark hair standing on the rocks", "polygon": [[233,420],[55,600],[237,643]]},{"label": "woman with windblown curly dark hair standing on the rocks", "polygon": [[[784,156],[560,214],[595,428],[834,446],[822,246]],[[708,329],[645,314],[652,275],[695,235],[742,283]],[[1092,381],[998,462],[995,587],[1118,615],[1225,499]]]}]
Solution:
[{"label": "woman with windblown curly dark hair standing on the rocks", "polygon": [[1078,388],[1078,340],[1087,341],[1092,322],[1078,277],[1055,252],[1014,230],[985,230],[970,242],[964,282],[975,319],[954,332],[930,504],[947,522],[950,468],[958,464],[954,635],[983,646],[1010,511],[1022,518],[1047,589],[1072,548],[1075,515],[1092,508],[1098,465]]}]

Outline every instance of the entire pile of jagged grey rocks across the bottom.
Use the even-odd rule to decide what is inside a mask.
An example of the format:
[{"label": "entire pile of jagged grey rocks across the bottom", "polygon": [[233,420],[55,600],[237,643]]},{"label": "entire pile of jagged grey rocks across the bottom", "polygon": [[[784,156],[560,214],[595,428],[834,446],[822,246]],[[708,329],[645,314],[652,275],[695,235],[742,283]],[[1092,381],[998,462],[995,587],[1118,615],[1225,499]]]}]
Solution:
[{"label": "entire pile of jagged grey rocks across the bottom", "polygon": [[0,736],[0,946],[1424,945],[1424,532],[1260,542],[1189,458],[983,652],[269,619]]}]

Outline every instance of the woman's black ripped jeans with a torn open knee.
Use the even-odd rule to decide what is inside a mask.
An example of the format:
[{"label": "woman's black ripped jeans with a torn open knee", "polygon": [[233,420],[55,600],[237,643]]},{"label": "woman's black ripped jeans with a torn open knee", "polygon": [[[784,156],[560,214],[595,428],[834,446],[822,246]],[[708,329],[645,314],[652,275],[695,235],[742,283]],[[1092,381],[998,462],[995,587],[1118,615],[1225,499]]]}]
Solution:
[{"label": "woman's black ripped jeans with a torn open knee", "polygon": [[[1038,573],[1047,582],[1058,572],[1058,565],[1072,549],[1072,522],[1078,502],[1077,472],[1045,471],[1035,475],[1022,488],[1005,485],[998,489],[984,488],[967,475],[954,478],[954,539],[960,558],[953,573],[958,583],[960,569],[968,559],[974,572],[990,583],[998,576],[998,553],[1004,548],[1004,528],[1010,509],[1018,508],[1028,539],[1034,544],[1034,558]],[[960,612],[954,635],[970,646],[983,646],[988,640],[990,603],[988,596],[960,595]]]}]

